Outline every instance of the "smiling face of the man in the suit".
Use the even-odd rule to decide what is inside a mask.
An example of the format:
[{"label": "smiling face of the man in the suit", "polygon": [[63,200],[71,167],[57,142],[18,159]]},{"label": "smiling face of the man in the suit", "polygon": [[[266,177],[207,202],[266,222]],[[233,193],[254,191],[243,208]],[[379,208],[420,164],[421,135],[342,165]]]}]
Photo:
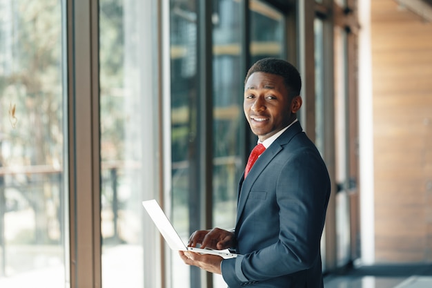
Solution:
[{"label": "smiling face of the man in the suit", "polygon": [[255,72],[246,81],[244,115],[260,141],[291,124],[300,106],[300,97],[294,97],[294,101],[289,99],[282,76]]}]

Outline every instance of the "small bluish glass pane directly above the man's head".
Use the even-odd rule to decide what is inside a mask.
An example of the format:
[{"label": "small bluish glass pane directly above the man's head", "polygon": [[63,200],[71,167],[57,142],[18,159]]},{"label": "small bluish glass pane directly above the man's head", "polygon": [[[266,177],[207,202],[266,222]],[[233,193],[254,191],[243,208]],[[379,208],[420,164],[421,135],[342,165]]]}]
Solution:
[{"label": "small bluish glass pane directly above the man's head", "polygon": [[264,1],[251,0],[250,5],[251,64],[265,57],[286,59],[284,15]]}]

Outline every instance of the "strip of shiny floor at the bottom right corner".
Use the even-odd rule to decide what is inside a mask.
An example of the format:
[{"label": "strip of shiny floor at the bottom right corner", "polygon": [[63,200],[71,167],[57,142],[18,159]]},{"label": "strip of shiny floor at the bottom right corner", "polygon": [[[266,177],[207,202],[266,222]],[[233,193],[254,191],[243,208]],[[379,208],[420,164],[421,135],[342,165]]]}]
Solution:
[{"label": "strip of shiny floor at the bottom right corner", "polygon": [[432,264],[359,267],[327,275],[324,288],[432,288]]}]

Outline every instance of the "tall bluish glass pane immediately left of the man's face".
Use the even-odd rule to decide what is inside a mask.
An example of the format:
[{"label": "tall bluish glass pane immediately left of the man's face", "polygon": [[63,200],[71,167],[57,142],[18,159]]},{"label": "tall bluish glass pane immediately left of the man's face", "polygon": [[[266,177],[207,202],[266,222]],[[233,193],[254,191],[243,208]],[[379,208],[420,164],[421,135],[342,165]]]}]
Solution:
[{"label": "tall bluish glass pane immediately left of the man's face", "polygon": [[[244,147],[241,6],[221,0],[213,10],[213,226],[234,229]],[[213,286],[226,287],[213,275]]]}]

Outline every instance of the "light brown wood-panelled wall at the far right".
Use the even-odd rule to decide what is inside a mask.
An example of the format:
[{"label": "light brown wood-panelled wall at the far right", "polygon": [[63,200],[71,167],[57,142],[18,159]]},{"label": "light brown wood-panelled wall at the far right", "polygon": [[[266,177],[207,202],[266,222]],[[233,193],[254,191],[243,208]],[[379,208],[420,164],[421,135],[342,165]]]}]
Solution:
[{"label": "light brown wood-panelled wall at the far right", "polygon": [[373,0],[371,45],[375,262],[432,261],[432,23]]}]

